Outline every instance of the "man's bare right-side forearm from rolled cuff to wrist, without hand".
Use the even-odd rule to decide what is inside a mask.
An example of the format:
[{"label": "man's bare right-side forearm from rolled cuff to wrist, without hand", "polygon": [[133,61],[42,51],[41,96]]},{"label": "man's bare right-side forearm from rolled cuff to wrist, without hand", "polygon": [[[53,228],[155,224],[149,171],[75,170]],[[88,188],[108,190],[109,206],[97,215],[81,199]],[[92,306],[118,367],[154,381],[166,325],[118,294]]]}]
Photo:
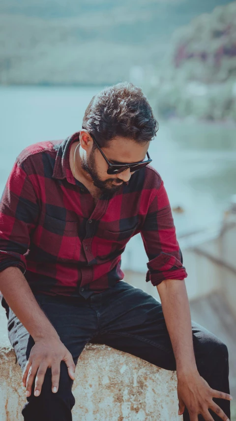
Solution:
[{"label": "man's bare right-side forearm from rolled cuff to wrist, without hand", "polygon": [[173,346],[177,376],[197,370],[193,350],[190,307],[185,282],[167,279],[157,285],[166,326]]}]

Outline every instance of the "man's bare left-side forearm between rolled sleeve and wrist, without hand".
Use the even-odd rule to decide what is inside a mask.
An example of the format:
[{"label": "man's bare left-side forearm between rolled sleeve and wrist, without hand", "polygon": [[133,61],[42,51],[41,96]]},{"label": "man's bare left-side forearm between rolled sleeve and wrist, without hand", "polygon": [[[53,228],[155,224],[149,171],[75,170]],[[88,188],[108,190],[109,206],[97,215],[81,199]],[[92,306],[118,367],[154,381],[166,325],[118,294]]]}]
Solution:
[{"label": "man's bare left-side forearm between rolled sleeve and wrist, without hand", "polygon": [[6,268],[0,273],[0,291],[34,341],[45,337],[59,338],[19,268]]}]

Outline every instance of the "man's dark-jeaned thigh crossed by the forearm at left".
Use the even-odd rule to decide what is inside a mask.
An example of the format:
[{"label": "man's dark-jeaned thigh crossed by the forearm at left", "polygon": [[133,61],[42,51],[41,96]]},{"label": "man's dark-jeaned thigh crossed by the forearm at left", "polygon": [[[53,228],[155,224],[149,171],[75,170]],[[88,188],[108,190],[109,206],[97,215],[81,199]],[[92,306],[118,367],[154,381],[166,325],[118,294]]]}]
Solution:
[{"label": "man's dark-jeaned thigh crossed by the forearm at left", "polygon": [[[71,352],[76,364],[85,344],[96,332],[96,313],[85,300],[76,301],[69,297],[58,298],[45,295],[37,295],[35,298],[59,334],[61,342]],[[10,343],[23,371],[34,340],[11,308],[9,308],[7,327]]]}]

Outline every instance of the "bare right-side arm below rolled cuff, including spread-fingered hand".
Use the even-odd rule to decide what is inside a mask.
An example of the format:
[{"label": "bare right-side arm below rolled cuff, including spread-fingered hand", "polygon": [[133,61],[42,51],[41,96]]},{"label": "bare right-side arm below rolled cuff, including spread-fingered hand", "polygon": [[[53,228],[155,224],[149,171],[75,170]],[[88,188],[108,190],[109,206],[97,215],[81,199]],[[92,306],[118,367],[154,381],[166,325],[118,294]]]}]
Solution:
[{"label": "bare right-side arm below rolled cuff, including spread-fingered hand", "polygon": [[[186,405],[191,421],[197,421],[198,414],[202,414],[207,421],[213,421],[209,415],[209,408],[222,420],[228,420],[224,412],[212,400],[213,397],[222,398],[222,392],[211,389],[197,370],[185,282],[166,279],[157,286],[157,290],[176,359],[178,415],[183,414]],[[223,395],[225,399],[231,398],[227,393]]]}]

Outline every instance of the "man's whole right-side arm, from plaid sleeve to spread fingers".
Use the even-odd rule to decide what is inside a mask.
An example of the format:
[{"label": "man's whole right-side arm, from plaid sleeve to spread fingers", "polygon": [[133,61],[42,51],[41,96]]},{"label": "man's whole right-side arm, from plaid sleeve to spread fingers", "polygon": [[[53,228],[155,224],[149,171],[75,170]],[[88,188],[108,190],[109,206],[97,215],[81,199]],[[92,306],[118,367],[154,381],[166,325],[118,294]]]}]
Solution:
[{"label": "man's whole right-side arm, from plaid sleeve to spread fingers", "polygon": [[[187,273],[182,265],[182,253],[177,242],[168,195],[160,176],[156,173],[154,178],[154,171],[153,185],[154,192],[141,230],[149,260],[146,280],[157,287],[176,358],[179,415],[186,405],[191,421],[198,420],[197,414],[202,413],[203,407],[207,421],[213,421],[208,408],[226,420],[223,411],[212,401],[212,397],[222,397],[222,393],[211,389],[197,370],[184,282]],[[224,398],[230,399],[230,396],[224,393]]]}]

